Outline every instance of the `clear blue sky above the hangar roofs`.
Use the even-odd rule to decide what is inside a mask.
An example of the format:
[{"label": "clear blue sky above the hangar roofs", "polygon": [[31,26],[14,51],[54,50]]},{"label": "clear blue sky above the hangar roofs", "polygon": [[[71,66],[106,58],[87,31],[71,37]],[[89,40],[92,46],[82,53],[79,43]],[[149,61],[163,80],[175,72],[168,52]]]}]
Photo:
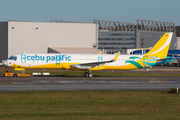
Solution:
[{"label": "clear blue sky above the hangar roofs", "polygon": [[137,19],[174,22],[180,26],[180,0],[0,0],[0,22],[136,23]]}]

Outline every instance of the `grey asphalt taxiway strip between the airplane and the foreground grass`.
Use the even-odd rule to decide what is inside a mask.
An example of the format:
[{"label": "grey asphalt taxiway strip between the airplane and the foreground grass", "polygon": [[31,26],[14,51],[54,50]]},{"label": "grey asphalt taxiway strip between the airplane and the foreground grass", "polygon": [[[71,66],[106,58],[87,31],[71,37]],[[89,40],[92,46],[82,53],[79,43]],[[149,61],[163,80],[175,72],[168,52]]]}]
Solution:
[{"label": "grey asphalt taxiway strip between the airplane and the foreground grass", "polygon": [[169,90],[180,77],[3,77],[0,91]]}]

